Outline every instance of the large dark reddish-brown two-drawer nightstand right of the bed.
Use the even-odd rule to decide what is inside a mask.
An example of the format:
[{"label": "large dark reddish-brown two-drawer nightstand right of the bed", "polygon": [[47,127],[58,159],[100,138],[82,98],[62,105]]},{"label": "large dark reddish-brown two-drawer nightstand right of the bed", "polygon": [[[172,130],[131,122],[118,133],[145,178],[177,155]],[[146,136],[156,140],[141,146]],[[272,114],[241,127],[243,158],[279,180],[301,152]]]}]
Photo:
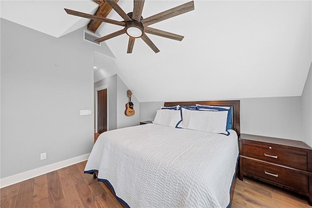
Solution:
[{"label": "large dark reddish-brown two-drawer nightstand right of the bed", "polygon": [[312,206],[312,148],[305,143],[242,133],[239,162],[240,180],[248,176],[306,195]]}]

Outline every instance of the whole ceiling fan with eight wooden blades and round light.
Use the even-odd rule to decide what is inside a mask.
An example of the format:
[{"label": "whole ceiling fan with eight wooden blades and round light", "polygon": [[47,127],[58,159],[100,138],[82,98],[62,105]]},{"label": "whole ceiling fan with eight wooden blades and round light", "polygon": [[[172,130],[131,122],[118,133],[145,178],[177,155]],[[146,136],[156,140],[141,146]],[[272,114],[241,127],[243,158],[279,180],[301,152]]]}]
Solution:
[{"label": "whole ceiling fan with eight wooden blades and round light", "polygon": [[155,28],[148,27],[151,24],[156,22],[173,18],[175,16],[184,14],[186,12],[194,10],[194,1],[190,1],[188,3],[182,4],[180,6],[176,6],[172,9],[166,10],[164,12],[160,12],[156,15],[143,19],[141,16],[144,0],[134,0],[134,8],[133,12],[126,14],[120,6],[114,0],[106,0],[107,3],[124,19],[124,21],[117,21],[114,19],[101,18],[95,15],[90,15],[70,9],[65,9],[67,14],[75,15],[82,18],[94,19],[106,23],[116,24],[124,27],[123,29],[104,36],[102,38],[96,39],[97,42],[101,42],[104,40],[108,40],[110,38],[117,37],[126,33],[129,36],[128,50],[127,53],[132,53],[132,49],[135,43],[136,38],[141,38],[155,53],[158,53],[159,50],[156,45],[152,42],[150,38],[146,36],[146,33],[153,34],[156,36],[161,36],[164,38],[170,38],[174,40],[181,41],[184,37],[180,35],[176,35],[173,33],[169,33],[166,31],[158,30]]}]

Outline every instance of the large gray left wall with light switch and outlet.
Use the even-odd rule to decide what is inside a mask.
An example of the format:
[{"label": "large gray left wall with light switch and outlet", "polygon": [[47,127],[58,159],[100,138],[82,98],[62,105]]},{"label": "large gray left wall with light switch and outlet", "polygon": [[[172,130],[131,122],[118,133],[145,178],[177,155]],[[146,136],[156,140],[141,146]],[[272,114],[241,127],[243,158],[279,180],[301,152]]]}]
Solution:
[{"label": "large gray left wall with light switch and outlet", "polygon": [[82,34],[54,38],[1,19],[0,178],[90,153],[93,56],[105,49]]}]

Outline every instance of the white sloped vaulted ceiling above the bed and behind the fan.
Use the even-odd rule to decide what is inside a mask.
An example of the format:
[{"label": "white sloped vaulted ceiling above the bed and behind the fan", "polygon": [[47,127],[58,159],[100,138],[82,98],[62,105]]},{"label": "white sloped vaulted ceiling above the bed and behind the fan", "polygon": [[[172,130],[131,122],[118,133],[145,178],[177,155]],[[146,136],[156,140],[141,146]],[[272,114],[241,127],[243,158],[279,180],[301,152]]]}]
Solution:
[{"label": "white sloped vaulted ceiling above the bed and behind the fan", "polygon": [[[146,0],[147,18],[188,0]],[[126,13],[132,0],[119,0]],[[63,8],[94,14],[91,0],[1,0],[1,18],[54,37],[89,22]],[[108,18],[122,20],[113,10]],[[195,10],[150,25],[185,36],[179,42],[140,38],[127,54],[128,36],[106,40],[116,58],[95,52],[95,81],[118,74],[140,102],[300,96],[312,62],[312,1],[195,0]],[[101,36],[121,27],[102,23]],[[81,35],[82,36],[82,35]]]}]

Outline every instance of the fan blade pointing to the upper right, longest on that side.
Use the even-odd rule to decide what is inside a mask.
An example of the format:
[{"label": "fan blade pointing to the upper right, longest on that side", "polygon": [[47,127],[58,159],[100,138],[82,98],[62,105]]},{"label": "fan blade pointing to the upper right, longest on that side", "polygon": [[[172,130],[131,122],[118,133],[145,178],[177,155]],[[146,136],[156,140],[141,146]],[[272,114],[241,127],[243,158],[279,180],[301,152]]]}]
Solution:
[{"label": "fan blade pointing to the upper right, longest on that side", "polygon": [[160,12],[160,13],[153,15],[151,17],[148,17],[146,19],[142,19],[141,23],[145,27],[145,26],[154,24],[156,22],[159,22],[159,21],[162,21],[165,19],[176,17],[178,15],[184,14],[184,13],[192,11],[192,10],[194,10],[194,1],[190,1],[188,3],[174,7],[172,9],[167,10],[167,11]]}]

